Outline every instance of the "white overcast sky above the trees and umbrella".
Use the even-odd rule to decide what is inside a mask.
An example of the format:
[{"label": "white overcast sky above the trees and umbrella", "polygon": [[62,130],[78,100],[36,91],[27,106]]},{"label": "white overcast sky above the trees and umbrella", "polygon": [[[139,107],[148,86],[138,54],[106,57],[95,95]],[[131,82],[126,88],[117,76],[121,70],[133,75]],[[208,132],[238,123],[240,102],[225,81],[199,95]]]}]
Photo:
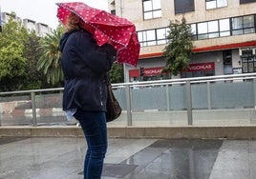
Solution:
[{"label": "white overcast sky above the trees and umbrella", "polygon": [[[22,19],[47,24],[55,29],[58,24],[55,3],[77,2],[79,0],[0,0],[2,12],[14,11]],[[107,10],[107,0],[80,0],[96,9]]]}]

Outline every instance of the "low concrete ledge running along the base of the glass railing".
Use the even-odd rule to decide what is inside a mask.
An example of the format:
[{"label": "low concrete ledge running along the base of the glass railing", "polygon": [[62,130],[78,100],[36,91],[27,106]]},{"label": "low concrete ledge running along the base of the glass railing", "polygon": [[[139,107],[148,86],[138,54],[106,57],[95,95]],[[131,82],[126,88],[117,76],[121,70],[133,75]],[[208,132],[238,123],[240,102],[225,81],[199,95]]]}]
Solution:
[{"label": "low concrete ledge running along the base of the glass railing", "polygon": [[[115,138],[256,139],[256,126],[108,127]],[[0,127],[0,137],[83,137],[80,127]]]}]

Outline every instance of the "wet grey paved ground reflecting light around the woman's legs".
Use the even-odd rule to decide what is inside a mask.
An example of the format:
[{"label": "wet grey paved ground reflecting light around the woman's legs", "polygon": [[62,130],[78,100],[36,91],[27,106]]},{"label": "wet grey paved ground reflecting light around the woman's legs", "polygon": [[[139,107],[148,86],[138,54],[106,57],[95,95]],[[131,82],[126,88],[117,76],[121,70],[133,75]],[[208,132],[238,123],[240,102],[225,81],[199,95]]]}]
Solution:
[{"label": "wet grey paved ground reflecting light around the woman's legs", "polygon": [[[83,138],[0,138],[0,179],[82,179]],[[110,138],[102,179],[255,179],[256,141]]]}]

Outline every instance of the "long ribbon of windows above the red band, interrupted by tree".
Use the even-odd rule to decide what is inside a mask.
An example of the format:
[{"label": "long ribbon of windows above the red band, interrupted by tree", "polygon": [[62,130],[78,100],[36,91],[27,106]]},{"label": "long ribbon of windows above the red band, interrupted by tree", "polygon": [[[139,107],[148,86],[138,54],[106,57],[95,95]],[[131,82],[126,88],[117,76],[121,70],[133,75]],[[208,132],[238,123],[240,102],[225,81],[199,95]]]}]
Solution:
[{"label": "long ribbon of windows above the red band, interrupted by tree", "polygon": [[[237,34],[255,33],[256,15],[231,17],[214,21],[190,24],[193,40],[224,37]],[[169,28],[141,30],[138,32],[141,47],[167,44]]]}]

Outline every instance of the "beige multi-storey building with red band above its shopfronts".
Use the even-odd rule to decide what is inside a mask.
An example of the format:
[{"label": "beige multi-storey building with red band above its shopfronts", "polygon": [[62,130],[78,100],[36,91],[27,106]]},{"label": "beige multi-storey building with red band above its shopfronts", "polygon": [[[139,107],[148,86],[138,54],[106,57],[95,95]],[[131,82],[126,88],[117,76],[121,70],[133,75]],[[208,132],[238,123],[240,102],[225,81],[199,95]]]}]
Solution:
[{"label": "beige multi-storey building with red band above its shopfronts", "polygon": [[[256,0],[108,0],[109,10],[136,25],[138,67],[124,66],[125,82],[169,78],[161,75],[162,50],[170,20],[191,26],[189,70],[179,77],[256,72]],[[143,68],[143,77],[140,76]]]}]

